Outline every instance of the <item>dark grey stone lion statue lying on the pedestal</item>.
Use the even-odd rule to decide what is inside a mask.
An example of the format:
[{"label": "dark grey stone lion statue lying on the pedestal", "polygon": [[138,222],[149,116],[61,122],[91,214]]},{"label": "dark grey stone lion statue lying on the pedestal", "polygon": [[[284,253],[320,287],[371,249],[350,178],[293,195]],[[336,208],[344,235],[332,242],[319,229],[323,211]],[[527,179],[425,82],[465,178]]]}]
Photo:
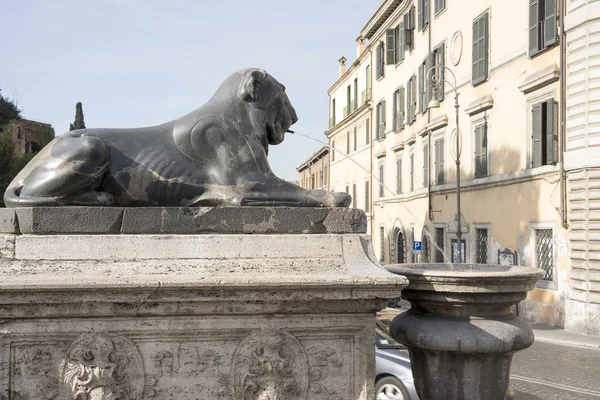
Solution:
[{"label": "dark grey stone lion statue lying on the pedestal", "polygon": [[267,161],[298,120],[262,69],[229,76],[202,107],[158,126],[58,136],[11,182],[8,207],[347,207],[346,193],[305,190]]}]

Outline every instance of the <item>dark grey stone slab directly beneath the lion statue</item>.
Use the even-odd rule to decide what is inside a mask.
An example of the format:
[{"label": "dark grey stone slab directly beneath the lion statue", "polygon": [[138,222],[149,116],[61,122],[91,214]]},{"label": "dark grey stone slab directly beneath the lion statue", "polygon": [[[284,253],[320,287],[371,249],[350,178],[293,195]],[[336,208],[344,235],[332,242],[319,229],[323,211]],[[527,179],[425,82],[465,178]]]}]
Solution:
[{"label": "dark grey stone slab directly beneath the lion statue", "polygon": [[[18,216],[18,221],[14,217]],[[301,207],[28,207],[0,209],[0,233],[365,233],[365,213]],[[13,222],[3,223],[12,218]],[[12,216],[12,217],[11,217]],[[17,223],[18,222],[18,223]]]}]

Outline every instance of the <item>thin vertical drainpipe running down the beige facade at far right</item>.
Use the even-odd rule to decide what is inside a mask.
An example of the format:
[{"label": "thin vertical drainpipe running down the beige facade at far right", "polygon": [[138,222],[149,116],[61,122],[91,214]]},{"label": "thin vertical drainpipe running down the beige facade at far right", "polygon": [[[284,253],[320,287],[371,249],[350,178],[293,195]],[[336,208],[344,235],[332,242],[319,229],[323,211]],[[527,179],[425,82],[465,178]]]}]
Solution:
[{"label": "thin vertical drainpipe running down the beige facade at far right", "polygon": [[560,0],[560,129],[558,134],[558,165],[560,167],[560,218],[563,228],[568,229],[567,220],[567,173],[565,171],[565,144],[566,144],[566,119],[567,119],[567,35],[565,33],[566,0]]}]

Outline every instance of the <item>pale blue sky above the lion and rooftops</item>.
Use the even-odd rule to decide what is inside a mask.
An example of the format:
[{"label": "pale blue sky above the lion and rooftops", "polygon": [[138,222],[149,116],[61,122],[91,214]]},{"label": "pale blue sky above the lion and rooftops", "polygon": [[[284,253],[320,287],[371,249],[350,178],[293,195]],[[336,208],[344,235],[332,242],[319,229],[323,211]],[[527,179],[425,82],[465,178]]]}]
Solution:
[{"label": "pale blue sky above the lion and rooftops", "polygon": [[[0,0],[0,89],[22,116],[69,129],[152,126],[204,104],[231,73],[265,69],[287,87],[292,129],[327,141],[337,60],[356,59],[379,0]],[[269,150],[277,176],[323,146],[286,135]]]}]

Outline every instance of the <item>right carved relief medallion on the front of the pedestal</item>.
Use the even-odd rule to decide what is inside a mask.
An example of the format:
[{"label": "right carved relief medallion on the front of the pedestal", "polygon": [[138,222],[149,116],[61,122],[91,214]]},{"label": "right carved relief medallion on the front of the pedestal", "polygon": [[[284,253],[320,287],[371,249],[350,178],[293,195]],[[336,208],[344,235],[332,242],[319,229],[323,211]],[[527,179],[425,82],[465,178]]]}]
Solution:
[{"label": "right carved relief medallion on the front of the pedestal", "polygon": [[308,398],[308,359],[298,339],[287,332],[248,336],[238,345],[231,369],[235,399]]}]

